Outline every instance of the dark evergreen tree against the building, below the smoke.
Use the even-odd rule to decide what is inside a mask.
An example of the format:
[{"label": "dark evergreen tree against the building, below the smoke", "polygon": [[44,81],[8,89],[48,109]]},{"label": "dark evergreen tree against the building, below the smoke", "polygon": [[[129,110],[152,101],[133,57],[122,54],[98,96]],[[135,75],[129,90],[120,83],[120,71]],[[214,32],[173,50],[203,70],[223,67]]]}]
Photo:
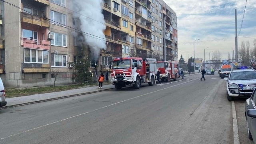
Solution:
[{"label": "dark evergreen tree against the building, below the smoke", "polygon": [[82,52],[78,55],[76,62],[72,63],[72,66],[76,70],[74,79],[78,84],[92,81],[89,73],[90,59],[85,56],[84,48],[82,48]]}]

